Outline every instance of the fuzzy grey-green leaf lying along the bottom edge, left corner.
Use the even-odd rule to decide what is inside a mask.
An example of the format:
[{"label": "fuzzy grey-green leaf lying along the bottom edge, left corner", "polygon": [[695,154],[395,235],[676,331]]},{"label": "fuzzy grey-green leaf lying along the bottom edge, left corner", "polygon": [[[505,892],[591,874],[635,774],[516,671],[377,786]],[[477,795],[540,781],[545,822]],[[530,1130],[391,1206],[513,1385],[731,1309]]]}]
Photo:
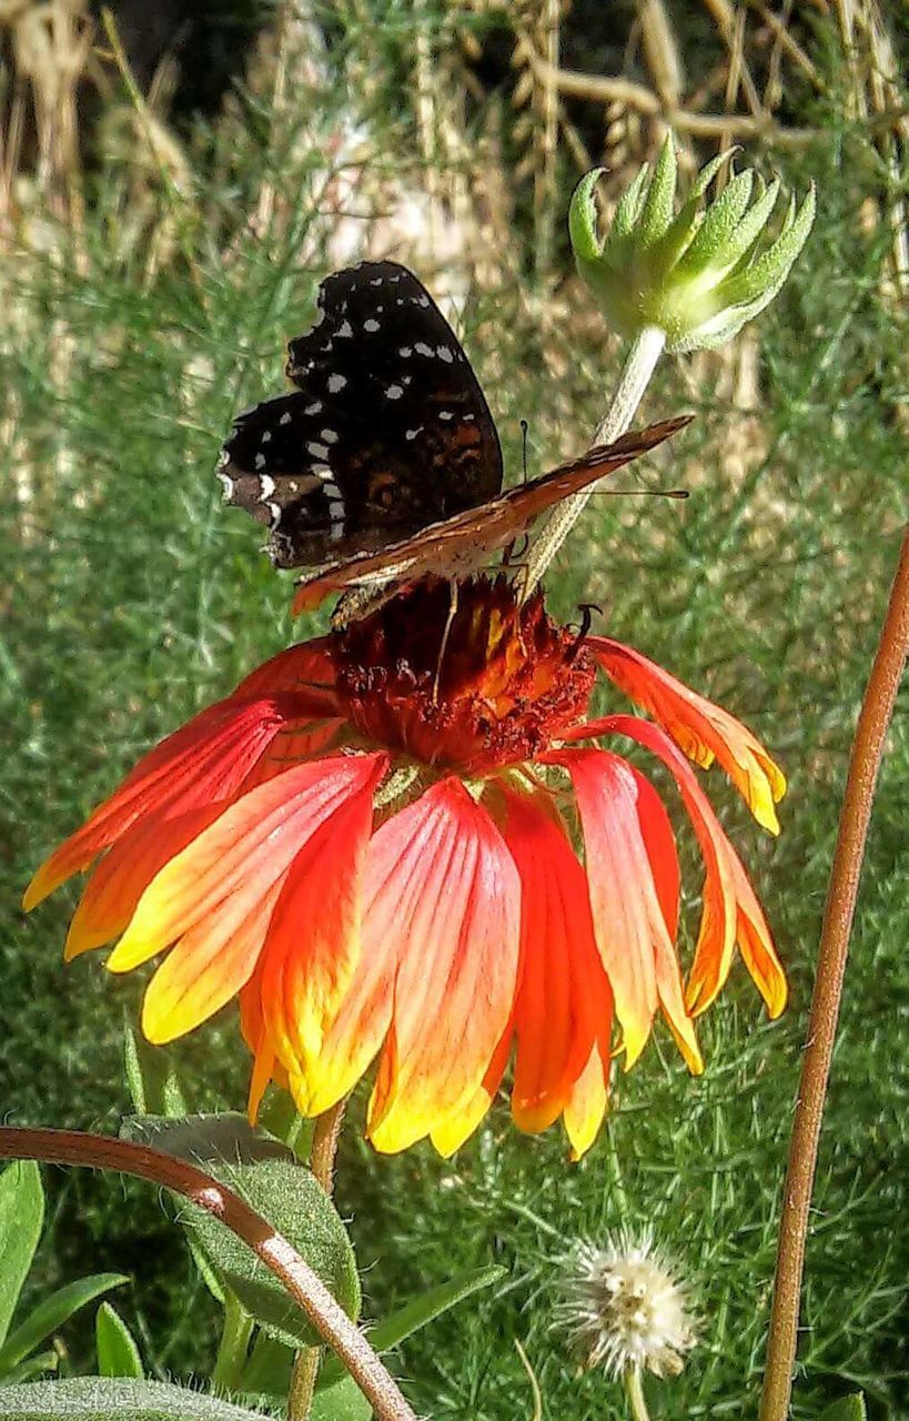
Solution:
[{"label": "fuzzy grey-green leaf lying along the bottom edge, left corner", "polygon": [[250,1421],[258,1411],[163,1381],[72,1377],[0,1390],[0,1417],[10,1421]]}]

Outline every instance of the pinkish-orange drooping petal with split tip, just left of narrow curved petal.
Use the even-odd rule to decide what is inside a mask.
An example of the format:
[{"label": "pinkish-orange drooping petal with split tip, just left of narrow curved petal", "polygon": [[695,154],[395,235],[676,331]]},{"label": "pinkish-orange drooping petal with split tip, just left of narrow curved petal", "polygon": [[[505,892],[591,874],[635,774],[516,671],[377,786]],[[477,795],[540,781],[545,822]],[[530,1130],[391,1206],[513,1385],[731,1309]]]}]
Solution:
[{"label": "pinkish-orange drooping petal with split tip, just left of narrow curved petal", "polygon": [[666,811],[652,784],[618,755],[562,750],[545,760],[564,764],[574,784],[594,932],[615,996],[625,1069],[643,1050],[659,1002],[687,1066],[699,1071],[703,1063],[662,905],[677,875]]}]

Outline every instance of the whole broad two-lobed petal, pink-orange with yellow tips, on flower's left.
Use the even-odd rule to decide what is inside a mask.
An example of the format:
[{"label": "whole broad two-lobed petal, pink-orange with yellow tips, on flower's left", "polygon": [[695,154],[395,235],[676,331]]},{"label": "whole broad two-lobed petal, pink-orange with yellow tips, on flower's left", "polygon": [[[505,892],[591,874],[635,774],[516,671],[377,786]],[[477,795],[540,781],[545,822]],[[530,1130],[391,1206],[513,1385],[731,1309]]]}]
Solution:
[{"label": "whole broad two-lobed petal, pink-orange with yellow tips, on flower's left", "polygon": [[374,783],[379,756],[301,764],[230,806],[152,880],[108,959],[126,972],[176,944],[149,986],[143,1027],[162,1042],[192,1030],[250,978],[295,857]]}]

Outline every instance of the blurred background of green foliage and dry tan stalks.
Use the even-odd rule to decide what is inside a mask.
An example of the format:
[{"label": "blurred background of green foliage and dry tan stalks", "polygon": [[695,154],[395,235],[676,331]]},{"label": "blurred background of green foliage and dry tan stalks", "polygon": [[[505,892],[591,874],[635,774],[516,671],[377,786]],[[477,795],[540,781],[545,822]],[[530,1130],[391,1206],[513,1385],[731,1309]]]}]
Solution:
[{"label": "blurred background of green foliage and dry tan stalks", "polygon": [[[34,865],[136,756],[291,638],[290,587],[220,504],[232,416],[283,388],[284,347],[328,271],[412,266],[463,337],[511,479],[582,450],[621,368],[575,279],[565,210],[605,206],[666,125],[692,172],[730,144],[820,209],[780,298],[719,352],[665,361],[643,419],[693,411],[592,500],[550,573],[554,610],[723,702],[790,776],[783,834],[710,791],[754,874],[793,1000],[770,1026],[741,969],[692,1080],[665,1030],[567,1162],[499,1104],[452,1161],[374,1155],[351,1107],[338,1199],[366,1313],[491,1259],[494,1295],[408,1344],[437,1421],[609,1421],[554,1327],[558,1259],[652,1225],[690,1280],[702,1341],[655,1390],[666,1418],[753,1414],[812,961],[851,733],[906,513],[909,26],[875,0],[0,0],[0,1103],[11,1123],[115,1131],[141,982],[64,971],[77,887],[31,919]],[[317,621],[300,622],[305,635]],[[834,1063],[805,1287],[797,1418],[864,1387],[905,1415],[905,824],[893,722]],[[655,779],[659,779],[655,774]],[[683,834],[686,831],[683,830]],[[686,847],[686,914],[700,872]],[[233,1012],[170,1053],[196,1108],[240,1107]],[[207,1373],[217,1313],[155,1192],[48,1171],[36,1296],[124,1269],[116,1306],[159,1376]],[[189,1302],[187,1302],[189,1299]],[[91,1370],[91,1326],[58,1340]]]}]

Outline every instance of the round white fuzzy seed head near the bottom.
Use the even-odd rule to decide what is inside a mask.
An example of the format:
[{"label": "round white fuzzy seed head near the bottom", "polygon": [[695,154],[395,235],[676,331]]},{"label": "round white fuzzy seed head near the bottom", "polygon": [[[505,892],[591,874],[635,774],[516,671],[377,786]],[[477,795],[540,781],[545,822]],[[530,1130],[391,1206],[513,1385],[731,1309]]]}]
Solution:
[{"label": "round white fuzzy seed head near the bottom", "polygon": [[685,1287],[649,1232],[582,1243],[567,1265],[562,1322],[588,1367],[675,1377],[696,1341]]}]

